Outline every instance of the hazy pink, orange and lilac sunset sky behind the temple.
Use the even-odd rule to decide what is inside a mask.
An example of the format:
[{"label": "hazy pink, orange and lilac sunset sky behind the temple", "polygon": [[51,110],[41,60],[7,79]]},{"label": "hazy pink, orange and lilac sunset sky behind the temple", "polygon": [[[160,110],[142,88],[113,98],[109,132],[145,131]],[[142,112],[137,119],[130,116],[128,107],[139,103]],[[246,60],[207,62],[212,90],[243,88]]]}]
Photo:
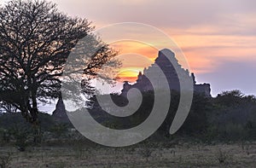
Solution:
[{"label": "hazy pink, orange and lilac sunset sky behind the temple", "polygon": [[[3,4],[3,0],[0,3]],[[256,95],[256,1],[254,0],[52,0],[71,16],[92,21],[96,29],[138,22],[165,32],[187,58],[197,83]],[[147,35],[148,36],[148,35]],[[150,35],[154,39],[154,34]],[[157,38],[155,38],[157,43]],[[160,42],[159,42],[160,43]],[[134,80],[157,50],[132,41],[112,43],[124,54],[120,76]],[[128,55],[127,53],[133,53]],[[139,55],[143,55],[139,56]]]}]

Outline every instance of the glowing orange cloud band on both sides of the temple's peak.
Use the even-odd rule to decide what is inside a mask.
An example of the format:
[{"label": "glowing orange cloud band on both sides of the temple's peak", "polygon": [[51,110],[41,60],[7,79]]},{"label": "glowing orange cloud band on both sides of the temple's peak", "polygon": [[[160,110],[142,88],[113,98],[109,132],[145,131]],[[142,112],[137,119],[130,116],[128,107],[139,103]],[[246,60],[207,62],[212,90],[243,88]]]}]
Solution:
[{"label": "glowing orange cloud band on both sides of the temple's peak", "polygon": [[[244,61],[256,58],[255,37],[245,35],[232,35],[232,32],[221,32],[218,26],[190,27],[187,30],[164,29],[170,38],[177,43],[186,57],[190,71],[198,73],[214,72],[218,69],[222,61]],[[172,35],[173,34],[173,35]],[[149,36],[149,35],[148,35]],[[157,41],[154,34],[149,36],[155,39],[163,48],[166,43]],[[111,43],[114,49],[119,50],[119,59],[123,62],[119,78],[121,81],[134,82],[139,71],[144,67],[149,67],[154,63],[158,55],[158,50],[148,45],[132,40],[124,40]],[[175,53],[178,59],[182,53]],[[182,61],[182,60],[181,60]],[[183,65],[183,62],[179,63]],[[131,71],[128,69],[130,68]]]}]

